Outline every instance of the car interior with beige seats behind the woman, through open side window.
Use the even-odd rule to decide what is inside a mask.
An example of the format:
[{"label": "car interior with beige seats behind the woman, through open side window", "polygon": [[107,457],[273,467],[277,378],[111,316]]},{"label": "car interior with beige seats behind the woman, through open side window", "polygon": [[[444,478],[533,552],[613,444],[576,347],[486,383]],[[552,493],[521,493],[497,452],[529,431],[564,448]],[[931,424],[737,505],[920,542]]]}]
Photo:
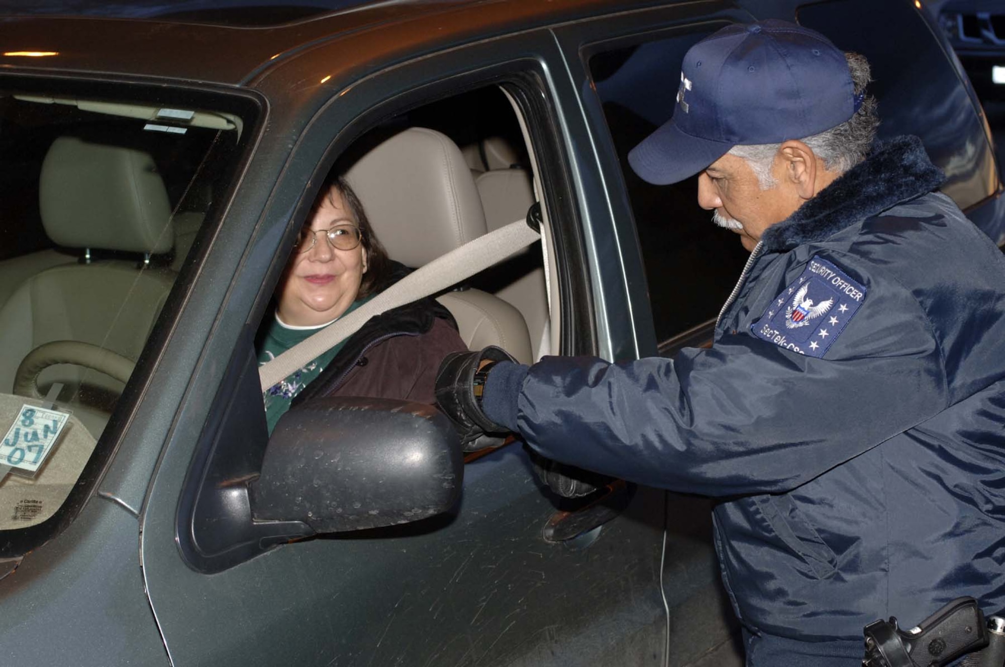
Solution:
[{"label": "car interior with beige seats behind the woman, through open side window", "polygon": [[[414,268],[526,219],[538,200],[526,146],[508,99],[490,87],[375,128],[336,170],[346,170],[390,257]],[[496,345],[530,364],[552,350],[548,293],[538,243],[437,298],[468,348]]]}]

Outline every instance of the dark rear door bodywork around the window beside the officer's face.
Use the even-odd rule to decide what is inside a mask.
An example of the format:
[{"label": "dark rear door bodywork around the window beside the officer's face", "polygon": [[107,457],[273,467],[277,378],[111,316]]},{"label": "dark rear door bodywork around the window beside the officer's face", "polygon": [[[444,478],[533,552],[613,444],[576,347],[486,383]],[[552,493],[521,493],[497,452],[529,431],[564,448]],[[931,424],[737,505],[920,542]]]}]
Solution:
[{"label": "dark rear door bodywork around the window beside the officer's face", "polygon": [[[693,341],[688,338],[690,332],[687,331],[671,339],[676,344],[672,349],[666,347],[666,342],[657,341],[650,291],[622,165],[589,71],[589,58],[599,50],[712,32],[726,22],[751,20],[753,17],[744,9],[727,3],[707,2],[630,10],[617,16],[579,21],[554,29],[577,90],[585,134],[590,138],[597,162],[598,180],[604,183],[612,232],[617,239],[620,260],[625,266],[625,290],[621,298],[632,317],[630,324],[622,324],[621,331],[625,340],[633,338],[636,342],[637,357],[669,356],[684,343],[692,344]],[[669,230],[667,233],[670,233]],[[713,502],[708,498],[670,492],[666,493],[665,502],[667,523],[660,564],[660,587],[668,615],[667,659],[671,663],[675,661],[678,658],[675,653],[680,651],[678,647],[701,641],[696,637],[703,634],[709,639],[715,638],[716,648],[710,654],[714,656],[710,664],[741,664],[742,650],[737,644],[739,626],[728,594],[719,586],[717,559],[712,554]],[[695,604],[692,587],[707,586],[708,573],[703,570],[707,554],[711,554],[712,564],[716,567],[715,592],[706,596],[701,604]]]}]

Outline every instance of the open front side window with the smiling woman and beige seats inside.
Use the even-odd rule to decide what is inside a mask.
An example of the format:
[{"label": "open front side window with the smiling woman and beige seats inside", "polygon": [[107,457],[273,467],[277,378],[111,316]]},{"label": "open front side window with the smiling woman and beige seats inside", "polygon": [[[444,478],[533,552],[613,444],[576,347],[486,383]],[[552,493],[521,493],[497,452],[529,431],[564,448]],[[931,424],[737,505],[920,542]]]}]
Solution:
[{"label": "open front side window with the smiling woman and beige seats inside", "polygon": [[[411,268],[524,219],[537,199],[519,124],[494,87],[428,104],[373,129],[340,158],[326,183],[305,227],[323,230],[337,218],[347,219],[362,228],[369,247],[342,251],[319,247],[319,240],[305,253],[294,251],[259,326],[260,364],[314,332],[297,326],[327,325]],[[386,263],[375,247],[384,250]],[[359,275],[346,278],[354,272]],[[276,410],[320,396],[432,403],[436,368],[454,348],[496,345],[531,363],[547,351],[550,339],[544,276],[536,243],[435,299],[371,318],[336,350],[265,391],[269,429],[278,419]],[[347,286],[362,296],[345,295]],[[410,351],[408,371],[388,366],[396,350]]]}]

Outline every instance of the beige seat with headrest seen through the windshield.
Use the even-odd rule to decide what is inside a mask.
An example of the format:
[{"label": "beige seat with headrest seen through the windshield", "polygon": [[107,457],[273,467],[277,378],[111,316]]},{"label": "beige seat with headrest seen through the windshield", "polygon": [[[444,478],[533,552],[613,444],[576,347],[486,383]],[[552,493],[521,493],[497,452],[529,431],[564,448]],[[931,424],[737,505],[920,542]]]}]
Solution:
[{"label": "beige seat with headrest seen through the windshield", "polygon": [[[55,266],[21,283],[0,306],[4,393],[11,391],[24,357],[45,343],[83,342],[138,359],[175,277],[143,262],[145,253],[170,252],[175,241],[167,191],[147,153],[61,137],[42,164],[39,206],[45,233],[57,245],[81,254],[136,254]],[[44,393],[54,382],[67,386],[60,400],[76,404],[74,410],[96,411],[96,420],[84,420],[88,429],[104,426],[123,389],[123,383],[77,366],[49,367],[38,387]]]}]

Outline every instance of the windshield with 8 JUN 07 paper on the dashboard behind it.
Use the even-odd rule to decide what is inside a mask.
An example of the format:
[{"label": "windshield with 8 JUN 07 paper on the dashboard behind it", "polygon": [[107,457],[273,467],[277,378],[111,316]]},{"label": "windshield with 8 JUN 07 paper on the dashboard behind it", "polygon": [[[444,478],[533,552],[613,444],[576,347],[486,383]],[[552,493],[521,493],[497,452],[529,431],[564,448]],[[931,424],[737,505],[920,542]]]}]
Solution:
[{"label": "windshield with 8 JUN 07 paper on the dashboard behind it", "polygon": [[88,461],[108,459],[98,439],[241,127],[0,90],[0,530],[43,527]]}]

